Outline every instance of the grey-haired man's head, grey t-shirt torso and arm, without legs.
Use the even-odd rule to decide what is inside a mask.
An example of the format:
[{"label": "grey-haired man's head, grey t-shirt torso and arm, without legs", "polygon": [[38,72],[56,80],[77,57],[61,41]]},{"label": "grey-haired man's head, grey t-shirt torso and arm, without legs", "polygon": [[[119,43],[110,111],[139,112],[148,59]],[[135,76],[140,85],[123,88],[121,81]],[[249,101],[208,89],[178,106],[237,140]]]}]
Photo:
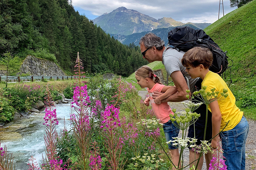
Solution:
[{"label": "grey-haired man's head, grey t-shirt torso and arm, without legs", "polygon": [[[197,78],[191,78],[185,71],[186,68],[181,64],[181,59],[185,52],[179,52],[174,48],[169,48],[165,51],[164,41],[153,33],[148,33],[142,37],[139,44],[143,58],[148,60],[149,63],[153,61],[162,61],[163,65],[165,66],[165,70],[171,76],[178,90],[177,93],[171,95],[163,102],[178,102],[187,100],[186,89],[190,89],[192,92]],[[189,83],[187,83],[187,81],[189,81]],[[188,87],[188,84],[191,88]],[[160,95],[160,93],[156,92],[155,96],[157,95]]]}]

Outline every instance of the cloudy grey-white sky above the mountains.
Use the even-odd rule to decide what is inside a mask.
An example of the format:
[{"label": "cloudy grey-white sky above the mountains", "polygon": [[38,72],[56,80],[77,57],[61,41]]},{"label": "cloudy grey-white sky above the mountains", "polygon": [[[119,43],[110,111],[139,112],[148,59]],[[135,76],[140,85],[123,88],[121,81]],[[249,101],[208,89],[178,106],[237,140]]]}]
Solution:
[{"label": "cloudy grey-white sky above the mountains", "polygon": [[[183,23],[213,23],[218,20],[220,0],[72,0],[72,4],[88,19],[95,19],[118,7],[126,7],[155,19],[171,17]],[[230,8],[229,0],[223,0],[223,5],[225,15],[236,9]],[[220,18],[222,16],[221,5]]]}]

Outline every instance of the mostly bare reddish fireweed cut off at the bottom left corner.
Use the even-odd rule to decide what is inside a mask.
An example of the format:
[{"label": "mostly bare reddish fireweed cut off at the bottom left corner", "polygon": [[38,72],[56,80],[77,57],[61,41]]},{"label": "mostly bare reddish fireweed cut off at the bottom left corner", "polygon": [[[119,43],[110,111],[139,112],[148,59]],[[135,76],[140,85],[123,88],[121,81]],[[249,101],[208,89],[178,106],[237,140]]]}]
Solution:
[{"label": "mostly bare reddish fireweed cut off at the bottom left corner", "polygon": [[[7,147],[4,148],[1,147],[0,142],[0,169],[2,170],[13,170],[13,154],[7,153]],[[15,169],[15,165],[14,165]]]}]

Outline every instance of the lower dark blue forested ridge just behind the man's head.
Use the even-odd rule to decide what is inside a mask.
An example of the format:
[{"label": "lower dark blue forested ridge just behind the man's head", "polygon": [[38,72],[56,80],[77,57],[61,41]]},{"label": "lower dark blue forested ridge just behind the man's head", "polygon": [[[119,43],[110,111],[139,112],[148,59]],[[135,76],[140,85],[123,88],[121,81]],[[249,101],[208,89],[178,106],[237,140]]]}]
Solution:
[{"label": "lower dark blue forested ridge just behind the man's head", "polygon": [[[184,24],[182,26],[189,26],[192,27],[194,29],[200,29],[192,24]],[[154,33],[155,35],[157,35],[158,37],[161,38],[161,40],[163,40],[165,42],[165,45],[168,44],[168,32],[173,29],[175,27],[168,27],[168,28],[158,28],[158,29],[153,29],[152,31],[144,31],[141,33],[134,33],[131,35],[114,35],[114,34],[110,34],[110,36],[113,36],[115,39],[117,39],[118,41],[120,41],[122,44],[132,44],[134,43],[134,45],[139,45],[140,39],[141,37],[143,37],[146,33]]]}]

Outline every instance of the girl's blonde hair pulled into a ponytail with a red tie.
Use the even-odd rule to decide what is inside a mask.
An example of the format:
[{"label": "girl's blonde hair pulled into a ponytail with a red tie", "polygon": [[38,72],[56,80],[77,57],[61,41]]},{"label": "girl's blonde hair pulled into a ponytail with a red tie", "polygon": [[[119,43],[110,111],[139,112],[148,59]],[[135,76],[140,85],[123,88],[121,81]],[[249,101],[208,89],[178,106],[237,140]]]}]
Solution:
[{"label": "girl's blonde hair pulled into a ponytail with a red tie", "polygon": [[140,76],[142,78],[150,78],[155,83],[162,84],[160,79],[157,76],[154,76],[155,74],[153,70],[147,65],[141,66],[137,71],[135,71],[135,75]]}]

